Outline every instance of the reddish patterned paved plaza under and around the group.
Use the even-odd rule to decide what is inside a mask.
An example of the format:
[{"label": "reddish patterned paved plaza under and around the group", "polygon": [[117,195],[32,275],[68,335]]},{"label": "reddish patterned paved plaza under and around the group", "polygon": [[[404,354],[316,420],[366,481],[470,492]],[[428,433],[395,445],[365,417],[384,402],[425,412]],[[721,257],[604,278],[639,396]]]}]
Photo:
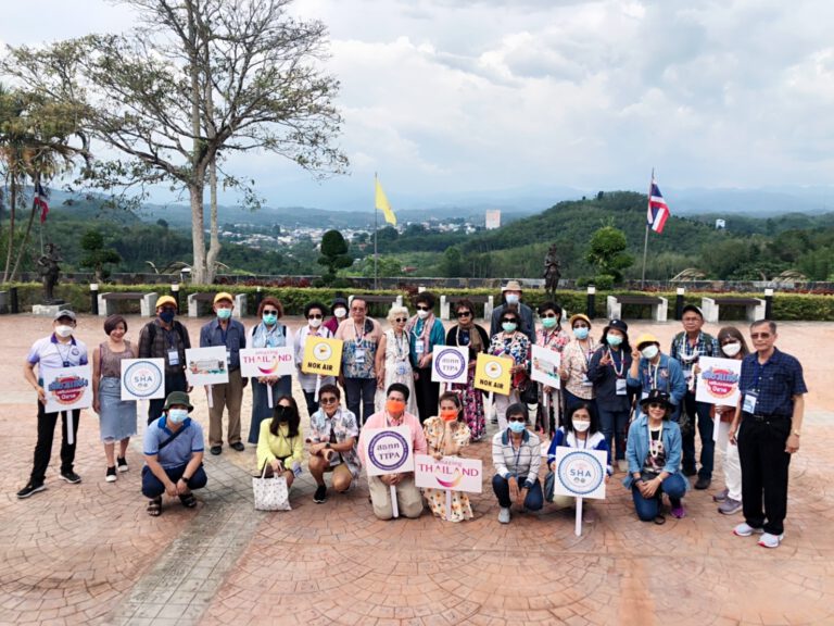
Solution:
[{"label": "reddish patterned paved plaza under and around the group", "polygon": [[[205,321],[187,321],[192,341]],[[128,338],[136,340],[143,321],[130,316],[128,323]],[[639,522],[616,474],[608,498],[591,505],[596,519],[581,537],[573,534],[572,512],[553,505],[539,514],[514,512],[511,524],[500,525],[488,440],[466,452],[485,461],[485,480],[483,493],[472,498],[475,519],[460,524],[427,513],[377,521],[365,478],[315,504],[306,467],[292,488],[291,512],[255,512],[253,446],[206,454],[208,485],[197,493],[198,508],[166,498],[154,518],[139,492],[140,437],[128,451],[130,471],[105,483],[91,411],[83,412],[78,430],[75,468],[83,483],[60,479],[58,433],[48,489],[17,500],[36,436],[35,393],[23,380],[23,362],[50,324],[30,315],[0,317],[2,625],[834,625],[834,376],[827,355],[834,323],[780,325],[776,345],[803,362],[810,392],[778,550],[733,536],[741,515],[718,514],[711,494],[722,487],[720,456],[712,488],[684,499],[684,519]],[[632,323],[630,335],[648,328]],[[650,328],[668,347],[680,324]],[[92,349],[104,339],[102,320],[79,316],[76,335]],[[295,395],[304,406],[298,387]],[[245,440],[249,390],[244,397]],[[192,400],[192,415],[207,427],[205,395],[195,391]],[[143,414],[140,405],[140,434]]]}]

